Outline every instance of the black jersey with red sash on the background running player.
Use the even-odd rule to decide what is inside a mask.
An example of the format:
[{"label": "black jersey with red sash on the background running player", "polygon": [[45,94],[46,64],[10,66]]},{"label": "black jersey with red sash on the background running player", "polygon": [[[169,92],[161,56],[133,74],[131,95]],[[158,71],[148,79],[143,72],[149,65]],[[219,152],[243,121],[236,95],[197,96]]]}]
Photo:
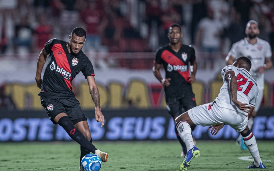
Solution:
[{"label": "black jersey with red sash on the background running player", "polygon": [[164,87],[166,97],[181,97],[191,91],[189,79],[189,62],[193,64],[196,60],[195,50],[190,45],[181,44],[178,52],[171,49],[169,44],[160,47],[156,52],[155,62],[163,64],[166,71],[165,78],[170,78],[170,85]]}]

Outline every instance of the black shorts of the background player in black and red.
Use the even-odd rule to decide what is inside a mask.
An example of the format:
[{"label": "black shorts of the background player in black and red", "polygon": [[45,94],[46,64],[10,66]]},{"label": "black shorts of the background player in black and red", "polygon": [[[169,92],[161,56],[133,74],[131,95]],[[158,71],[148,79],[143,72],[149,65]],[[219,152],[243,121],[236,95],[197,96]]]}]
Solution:
[{"label": "black shorts of the background player in black and red", "polygon": [[193,92],[189,92],[177,98],[166,97],[166,108],[173,118],[196,106],[195,95]]}]

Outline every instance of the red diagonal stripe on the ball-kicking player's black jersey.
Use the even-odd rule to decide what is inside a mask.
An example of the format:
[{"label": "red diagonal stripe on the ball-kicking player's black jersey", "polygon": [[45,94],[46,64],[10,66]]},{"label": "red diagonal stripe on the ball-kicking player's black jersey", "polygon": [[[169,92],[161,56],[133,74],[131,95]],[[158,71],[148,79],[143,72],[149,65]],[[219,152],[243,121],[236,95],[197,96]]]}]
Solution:
[{"label": "red diagonal stripe on the ball-kicking player's black jersey", "polygon": [[[52,46],[52,52],[53,52],[53,55],[55,57],[57,65],[60,68],[63,68],[64,70],[66,70],[69,73],[71,73],[71,69],[70,69],[70,66],[69,66],[69,61],[68,61],[68,59],[66,57],[66,52],[64,51],[62,45],[61,44],[55,44],[55,45],[53,45]],[[61,73],[61,75],[64,76],[64,74],[62,74],[62,73]],[[71,80],[71,77],[70,77],[70,80]],[[70,80],[67,80],[67,79],[64,78],[64,81],[66,82],[66,85],[69,87],[69,89],[72,90],[72,85],[71,85],[71,81]]]}]

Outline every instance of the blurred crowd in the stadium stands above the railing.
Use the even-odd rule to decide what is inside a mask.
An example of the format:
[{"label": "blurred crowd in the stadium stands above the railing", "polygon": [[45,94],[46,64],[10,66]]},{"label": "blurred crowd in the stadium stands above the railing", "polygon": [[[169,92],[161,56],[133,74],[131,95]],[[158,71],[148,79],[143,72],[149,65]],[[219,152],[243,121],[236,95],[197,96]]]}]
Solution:
[{"label": "blurred crowd in the stadium stands above the railing", "polygon": [[196,51],[227,53],[250,19],[274,49],[273,0],[0,0],[0,11],[2,54],[40,52],[76,26],[87,30],[84,52],[154,52],[174,22]]}]

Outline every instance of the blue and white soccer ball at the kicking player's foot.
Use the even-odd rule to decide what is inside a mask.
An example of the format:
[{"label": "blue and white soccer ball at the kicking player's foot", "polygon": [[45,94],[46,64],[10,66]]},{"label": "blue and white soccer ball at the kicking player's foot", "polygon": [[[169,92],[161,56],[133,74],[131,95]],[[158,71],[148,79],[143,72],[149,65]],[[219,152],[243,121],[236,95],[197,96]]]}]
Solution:
[{"label": "blue and white soccer ball at the kicking player's foot", "polygon": [[81,167],[84,171],[99,171],[101,166],[101,159],[95,154],[87,154],[81,160]]}]

